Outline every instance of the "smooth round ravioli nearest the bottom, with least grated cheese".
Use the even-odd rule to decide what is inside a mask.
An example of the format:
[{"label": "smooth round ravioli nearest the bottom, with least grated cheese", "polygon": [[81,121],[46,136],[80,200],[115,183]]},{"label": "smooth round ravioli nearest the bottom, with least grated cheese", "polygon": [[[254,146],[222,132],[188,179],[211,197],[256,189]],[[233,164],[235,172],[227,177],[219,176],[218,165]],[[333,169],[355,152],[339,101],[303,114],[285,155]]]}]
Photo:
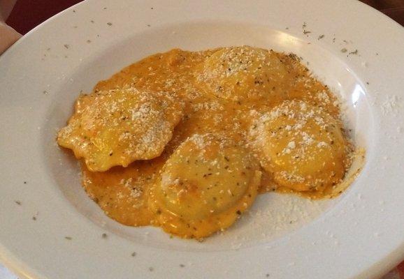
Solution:
[{"label": "smooth round ravioli nearest the bottom, with least grated cheese", "polygon": [[226,229],[251,206],[260,179],[243,146],[217,135],[193,135],[166,161],[152,206],[166,232],[201,239]]}]

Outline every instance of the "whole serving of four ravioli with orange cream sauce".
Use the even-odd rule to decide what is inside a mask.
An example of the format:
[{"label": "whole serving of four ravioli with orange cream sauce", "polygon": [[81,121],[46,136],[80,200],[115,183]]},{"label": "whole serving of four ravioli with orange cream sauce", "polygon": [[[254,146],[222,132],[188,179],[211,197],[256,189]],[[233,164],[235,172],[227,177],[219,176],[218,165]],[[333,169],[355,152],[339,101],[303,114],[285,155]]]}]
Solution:
[{"label": "whole serving of four ravioli with orange cream sauce", "polygon": [[340,113],[294,54],[175,49],[81,95],[57,142],[110,218],[201,240],[259,193],[340,194],[356,153]]}]

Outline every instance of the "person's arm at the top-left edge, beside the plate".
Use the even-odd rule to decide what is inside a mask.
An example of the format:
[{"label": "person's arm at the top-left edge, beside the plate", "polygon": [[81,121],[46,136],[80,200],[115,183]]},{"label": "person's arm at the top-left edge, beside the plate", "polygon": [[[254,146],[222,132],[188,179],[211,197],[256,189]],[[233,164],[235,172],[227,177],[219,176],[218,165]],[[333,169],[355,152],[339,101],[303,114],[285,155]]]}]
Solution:
[{"label": "person's arm at the top-left edge, beside the plate", "polygon": [[9,27],[5,22],[13,10],[15,0],[0,0],[0,54],[13,45],[21,34]]}]

